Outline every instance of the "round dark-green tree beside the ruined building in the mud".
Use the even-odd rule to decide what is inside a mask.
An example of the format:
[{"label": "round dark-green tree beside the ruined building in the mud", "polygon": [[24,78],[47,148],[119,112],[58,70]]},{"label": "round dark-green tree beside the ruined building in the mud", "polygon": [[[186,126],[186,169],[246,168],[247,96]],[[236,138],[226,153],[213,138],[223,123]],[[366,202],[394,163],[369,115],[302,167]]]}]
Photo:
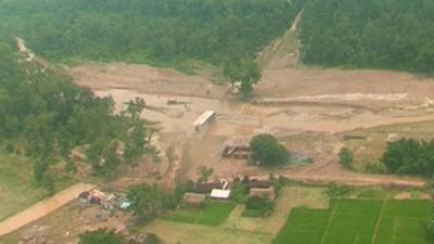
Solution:
[{"label": "round dark-green tree beside the ruined building in the mud", "polygon": [[288,164],[291,153],[268,133],[258,134],[251,141],[252,162],[258,166],[275,167]]}]

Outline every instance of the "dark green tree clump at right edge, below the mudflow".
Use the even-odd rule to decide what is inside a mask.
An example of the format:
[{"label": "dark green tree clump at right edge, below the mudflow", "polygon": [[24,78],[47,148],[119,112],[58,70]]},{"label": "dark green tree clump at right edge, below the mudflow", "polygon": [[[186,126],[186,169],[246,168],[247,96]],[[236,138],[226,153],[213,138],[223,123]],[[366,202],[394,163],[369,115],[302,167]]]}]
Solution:
[{"label": "dark green tree clump at right edge, below the mudflow", "polygon": [[400,139],[388,143],[382,160],[390,172],[432,177],[434,140]]}]

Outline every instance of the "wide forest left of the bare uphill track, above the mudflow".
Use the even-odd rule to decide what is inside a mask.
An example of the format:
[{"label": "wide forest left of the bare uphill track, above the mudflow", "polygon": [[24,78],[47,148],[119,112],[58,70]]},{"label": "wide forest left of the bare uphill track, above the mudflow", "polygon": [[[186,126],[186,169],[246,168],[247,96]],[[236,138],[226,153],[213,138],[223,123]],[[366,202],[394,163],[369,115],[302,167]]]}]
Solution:
[{"label": "wide forest left of the bare uphill track, above the mudflow", "polygon": [[0,1],[0,35],[52,60],[175,65],[254,55],[283,34],[305,0]]}]

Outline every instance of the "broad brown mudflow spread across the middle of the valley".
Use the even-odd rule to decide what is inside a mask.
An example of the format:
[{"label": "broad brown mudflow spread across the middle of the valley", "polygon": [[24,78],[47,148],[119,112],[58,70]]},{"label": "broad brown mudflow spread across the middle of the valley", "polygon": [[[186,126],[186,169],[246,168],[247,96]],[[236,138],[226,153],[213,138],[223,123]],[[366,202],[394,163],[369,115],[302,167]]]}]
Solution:
[{"label": "broad brown mudflow spread across the middle of the valley", "polygon": [[[256,133],[270,132],[291,150],[315,159],[311,166],[280,170],[293,179],[403,187],[424,183],[342,171],[336,153],[343,143],[337,133],[434,120],[434,80],[376,70],[269,69],[257,87],[260,97],[253,103],[240,103],[224,99],[225,88],[213,86],[205,77],[190,78],[177,72],[155,69],[111,64],[99,68],[82,66],[72,74],[77,84],[90,87],[98,95],[112,95],[118,110],[136,97],[146,101],[143,117],[159,123],[161,149],[165,152],[175,141],[180,142],[180,147],[176,147],[177,164],[166,174],[167,182],[174,182],[178,170],[184,177],[194,178],[201,166],[213,167],[217,178],[268,174],[248,166],[245,160],[222,159],[220,153],[227,142],[248,142]],[[205,90],[197,89],[201,87],[209,88],[210,94],[206,97]],[[168,100],[181,104],[168,105]],[[216,123],[200,134],[186,137],[191,133],[194,119],[206,110],[217,111]],[[304,140],[303,146],[292,143],[299,139]]]}]

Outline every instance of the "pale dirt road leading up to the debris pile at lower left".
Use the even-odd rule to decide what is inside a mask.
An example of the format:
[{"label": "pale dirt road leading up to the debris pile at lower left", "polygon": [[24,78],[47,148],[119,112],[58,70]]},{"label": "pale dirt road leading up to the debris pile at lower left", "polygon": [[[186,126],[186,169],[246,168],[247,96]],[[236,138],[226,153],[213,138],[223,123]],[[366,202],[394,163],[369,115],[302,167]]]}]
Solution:
[{"label": "pale dirt road leading up to the debris pile at lower left", "polygon": [[86,183],[77,183],[65,189],[53,197],[39,202],[38,204],[5,219],[0,222],[0,236],[11,233],[46,215],[61,208],[65,204],[78,197],[84,191],[93,189],[94,185]]}]

